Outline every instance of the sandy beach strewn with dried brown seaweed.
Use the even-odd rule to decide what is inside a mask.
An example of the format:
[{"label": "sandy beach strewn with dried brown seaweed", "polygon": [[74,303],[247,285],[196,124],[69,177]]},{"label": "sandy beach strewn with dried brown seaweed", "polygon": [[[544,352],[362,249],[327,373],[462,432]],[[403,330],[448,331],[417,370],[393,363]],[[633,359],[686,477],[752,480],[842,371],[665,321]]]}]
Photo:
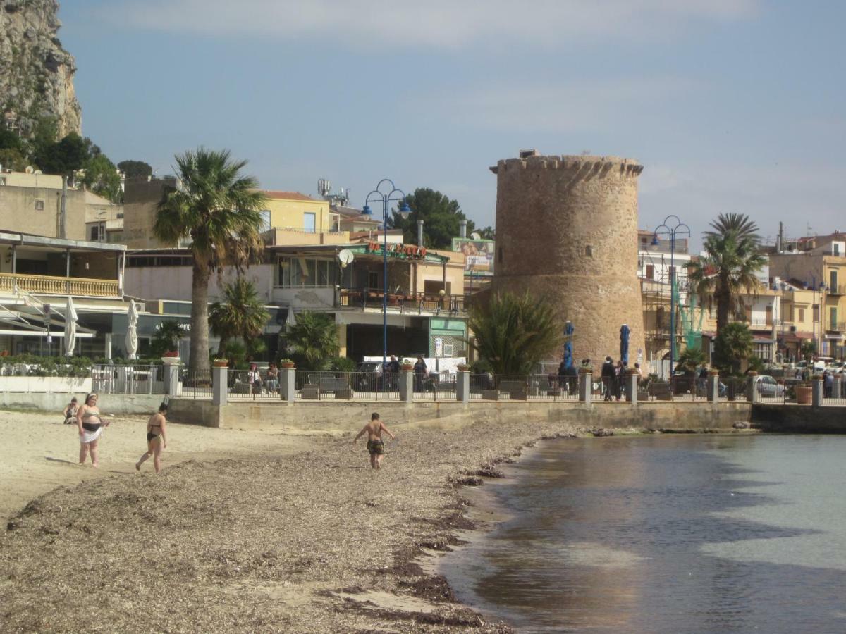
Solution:
[{"label": "sandy beach strewn with dried brown seaweed", "polygon": [[[68,427],[57,422],[47,433],[54,419],[11,415],[61,439],[49,454],[34,431],[30,462],[73,457]],[[307,439],[302,451],[301,437],[186,428],[186,439],[196,434],[191,451],[205,457],[171,458],[156,476],[132,467],[142,424],[127,424],[133,440],[120,451],[116,430],[104,441],[102,471],[114,473],[74,475],[10,520],[0,538],[0,629],[510,631],[455,604],[424,567],[471,527],[460,484],[497,476],[503,458],[542,436],[576,431],[398,427],[384,468],[373,472],[352,435]],[[221,448],[215,435],[227,446],[240,439],[244,453],[207,462]]]}]

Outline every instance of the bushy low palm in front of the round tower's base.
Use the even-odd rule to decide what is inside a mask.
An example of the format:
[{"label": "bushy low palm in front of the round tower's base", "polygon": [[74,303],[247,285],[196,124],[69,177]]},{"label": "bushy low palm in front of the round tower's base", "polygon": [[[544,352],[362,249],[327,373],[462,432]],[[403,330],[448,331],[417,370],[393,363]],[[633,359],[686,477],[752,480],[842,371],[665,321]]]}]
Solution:
[{"label": "bushy low palm in front of the round tower's base", "polygon": [[474,304],[467,326],[473,347],[495,374],[530,374],[563,342],[552,306],[528,292],[497,293],[487,306]]}]

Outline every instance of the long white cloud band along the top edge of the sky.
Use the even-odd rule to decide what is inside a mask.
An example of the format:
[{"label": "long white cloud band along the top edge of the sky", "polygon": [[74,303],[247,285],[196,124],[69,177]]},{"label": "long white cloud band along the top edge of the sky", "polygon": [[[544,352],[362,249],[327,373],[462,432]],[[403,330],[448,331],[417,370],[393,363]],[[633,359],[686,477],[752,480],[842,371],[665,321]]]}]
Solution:
[{"label": "long white cloud band along the top edge of the sky", "polygon": [[[597,44],[678,31],[691,21],[754,16],[761,0],[151,0],[103,3],[130,27],[216,36],[321,36],[361,47],[486,43]],[[600,43],[601,44],[601,43]]]}]

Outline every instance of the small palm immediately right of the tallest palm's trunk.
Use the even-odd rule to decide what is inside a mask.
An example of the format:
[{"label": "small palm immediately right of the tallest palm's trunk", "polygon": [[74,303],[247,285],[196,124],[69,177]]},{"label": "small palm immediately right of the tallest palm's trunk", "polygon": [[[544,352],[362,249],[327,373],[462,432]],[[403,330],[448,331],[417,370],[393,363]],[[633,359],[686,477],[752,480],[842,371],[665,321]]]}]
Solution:
[{"label": "small palm immediately right of the tallest palm's trunk", "polygon": [[211,331],[220,337],[217,354],[222,355],[228,339],[240,337],[248,353],[255,353],[255,337],[264,331],[270,313],[261,307],[255,285],[238,276],[223,285],[225,302],[215,302],[209,308]]}]

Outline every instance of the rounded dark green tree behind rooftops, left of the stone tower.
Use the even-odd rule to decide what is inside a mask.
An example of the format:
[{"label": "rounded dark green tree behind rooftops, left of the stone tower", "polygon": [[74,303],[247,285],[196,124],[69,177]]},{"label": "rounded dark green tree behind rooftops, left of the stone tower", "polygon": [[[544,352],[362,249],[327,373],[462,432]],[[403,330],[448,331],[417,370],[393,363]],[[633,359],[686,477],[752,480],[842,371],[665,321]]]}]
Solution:
[{"label": "rounded dark green tree behind rooftops, left of the stone tower", "polygon": [[[415,189],[414,194],[406,196],[405,201],[411,208],[408,219],[398,212],[387,219],[387,227],[402,229],[406,243],[417,242],[417,221],[423,221],[424,246],[430,249],[451,249],[453,238],[459,236],[460,221],[466,220],[457,200],[450,200],[446,195],[434,189]],[[467,221],[467,232],[475,228],[473,221]]]}]

